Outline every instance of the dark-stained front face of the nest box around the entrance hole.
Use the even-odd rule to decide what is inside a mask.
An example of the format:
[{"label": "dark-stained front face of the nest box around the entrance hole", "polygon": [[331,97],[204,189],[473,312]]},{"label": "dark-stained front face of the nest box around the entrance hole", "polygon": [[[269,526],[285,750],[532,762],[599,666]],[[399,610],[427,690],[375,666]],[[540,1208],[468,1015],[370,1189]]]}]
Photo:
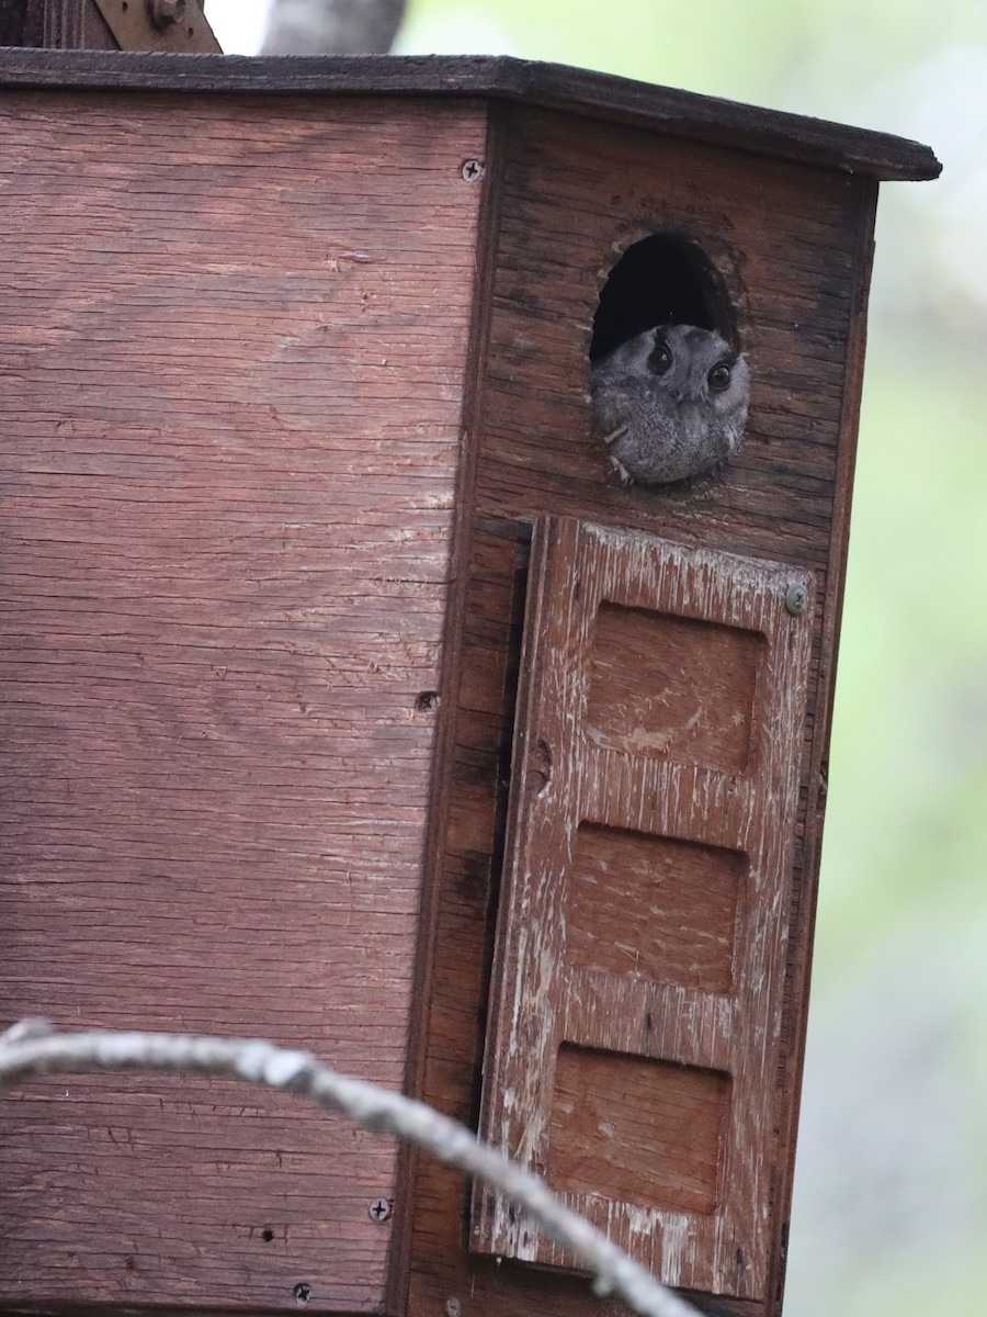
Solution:
[{"label": "dark-stained front face of the nest box around the entrance hole", "polygon": [[[438,907],[422,1094],[476,1119],[490,981],[491,911],[499,900],[504,760],[511,730],[495,636],[516,601],[515,543],[525,520],[567,515],[784,562],[813,574],[812,660],[797,769],[799,807],[786,889],[790,934],[774,1112],[765,1126],[767,1283],[745,1300],[691,1292],[701,1310],[775,1317],[780,1310],[794,1130],[804,1038],[824,764],[846,551],[850,479],[876,188],[826,171],[594,124],[508,109],[503,154],[487,180],[503,196],[491,225],[494,290],[467,431],[475,448],[475,525],[500,527],[503,548],[474,539],[463,627],[488,637],[462,651],[454,718],[450,828],[433,900]],[[588,346],[600,287],[621,250],[672,232],[708,253],[736,308],[754,375],[744,452],[719,481],[682,494],[622,489],[590,432]],[[512,531],[512,525],[516,527]],[[520,537],[520,539],[519,539]],[[515,582],[512,594],[512,582]],[[516,606],[516,605],[515,605]],[[466,697],[468,691],[468,698]],[[482,719],[474,710],[483,709]],[[588,1317],[622,1312],[561,1274],[465,1249],[462,1187],[422,1163],[417,1176],[409,1310]]]}]

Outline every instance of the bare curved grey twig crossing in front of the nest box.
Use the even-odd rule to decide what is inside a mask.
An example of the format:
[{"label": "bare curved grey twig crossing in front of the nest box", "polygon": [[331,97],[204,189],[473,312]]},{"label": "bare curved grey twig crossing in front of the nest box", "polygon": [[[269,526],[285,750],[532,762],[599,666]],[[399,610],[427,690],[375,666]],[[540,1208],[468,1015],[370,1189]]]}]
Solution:
[{"label": "bare curved grey twig crossing in front of the nest box", "polygon": [[253,1038],[116,1030],[58,1034],[37,1019],[21,1021],[0,1034],[0,1092],[32,1075],[92,1069],[191,1071],[301,1093],[368,1130],[411,1139],[442,1162],[480,1176],[530,1213],[555,1243],[570,1249],[594,1272],[597,1293],[617,1292],[645,1317],[699,1317],[595,1226],[562,1206],[538,1176],[424,1102],[338,1075],[311,1052]]}]

